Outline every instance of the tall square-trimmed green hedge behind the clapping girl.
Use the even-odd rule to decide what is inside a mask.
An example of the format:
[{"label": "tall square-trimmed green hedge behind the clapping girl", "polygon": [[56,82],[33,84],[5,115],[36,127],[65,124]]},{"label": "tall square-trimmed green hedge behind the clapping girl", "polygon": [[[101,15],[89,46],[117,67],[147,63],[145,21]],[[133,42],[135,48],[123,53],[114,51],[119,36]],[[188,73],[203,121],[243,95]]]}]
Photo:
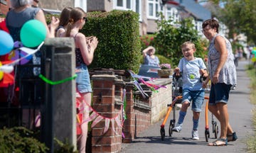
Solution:
[{"label": "tall square-trimmed green hedge behind the clapping girl", "polygon": [[99,43],[89,68],[139,69],[142,55],[139,40],[139,15],[134,11],[88,13],[81,32],[95,35]]}]

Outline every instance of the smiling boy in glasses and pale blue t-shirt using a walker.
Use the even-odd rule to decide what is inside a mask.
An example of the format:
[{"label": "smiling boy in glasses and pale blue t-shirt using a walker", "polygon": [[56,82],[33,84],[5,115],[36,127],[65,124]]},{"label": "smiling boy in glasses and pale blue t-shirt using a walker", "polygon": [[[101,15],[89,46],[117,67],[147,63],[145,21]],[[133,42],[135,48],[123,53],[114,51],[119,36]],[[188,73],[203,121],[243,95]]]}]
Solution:
[{"label": "smiling boy in glasses and pale blue t-shirt using a walker", "polygon": [[[206,64],[201,58],[194,57],[196,47],[193,42],[184,42],[181,45],[183,58],[179,61],[178,67],[174,69],[176,76],[182,77],[182,106],[179,112],[178,123],[174,127],[175,132],[181,132],[182,123],[186,116],[188,106],[192,104],[193,130],[192,139],[199,140],[198,122],[201,108],[204,101],[205,91],[202,87],[201,76],[207,77]],[[182,73],[182,74],[181,74]]]}]

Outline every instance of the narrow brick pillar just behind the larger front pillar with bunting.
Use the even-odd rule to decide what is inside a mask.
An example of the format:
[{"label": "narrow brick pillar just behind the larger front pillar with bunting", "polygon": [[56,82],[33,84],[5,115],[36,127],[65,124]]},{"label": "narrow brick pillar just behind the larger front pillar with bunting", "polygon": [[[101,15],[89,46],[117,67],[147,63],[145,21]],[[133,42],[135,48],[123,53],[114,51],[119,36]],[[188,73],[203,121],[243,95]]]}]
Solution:
[{"label": "narrow brick pillar just behind the larger front pillar with bunting", "polygon": [[133,88],[134,85],[132,83],[127,83],[126,92],[127,92],[127,106],[125,109],[125,113],[127,116],[127,120],[124,121],[124,143],[132,142],[134,138],[135,132],[135,114],[134,114],[134,100],[133,100]]}]

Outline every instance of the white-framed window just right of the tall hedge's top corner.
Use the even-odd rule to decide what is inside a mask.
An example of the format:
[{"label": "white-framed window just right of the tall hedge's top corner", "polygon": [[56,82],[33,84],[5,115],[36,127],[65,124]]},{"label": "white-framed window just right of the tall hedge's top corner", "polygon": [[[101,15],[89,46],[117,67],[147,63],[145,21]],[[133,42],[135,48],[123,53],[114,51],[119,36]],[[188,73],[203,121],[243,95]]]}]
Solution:
[{"label": "white-framed window just right of the tall hedge's top corner", "polygon": [[148,0],[148,18],[157,18],[157,13],[161,10],[159,0]]}]

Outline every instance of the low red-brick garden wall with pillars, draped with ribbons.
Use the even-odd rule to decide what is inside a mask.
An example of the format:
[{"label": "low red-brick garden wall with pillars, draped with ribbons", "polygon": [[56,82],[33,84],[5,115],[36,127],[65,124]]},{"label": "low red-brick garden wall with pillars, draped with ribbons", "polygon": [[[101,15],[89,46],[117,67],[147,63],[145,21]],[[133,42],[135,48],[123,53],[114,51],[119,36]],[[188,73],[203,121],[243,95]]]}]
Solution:
[{"label": "low red-brick garden wall with pillars, draped with ribbons", "polygon": [[171,103],[171,79],[157,79],[154,84],[166,85],[167,88],[152,93],[148,87],[143,86],[144,91],[149,95],[143,98],[138,91],[134,92],[132,82],[125,82],[122,77],[115,76],[114,72],[95,72],[92,75],[92,108],[97,113],[106,118],[117,116],[123,105],[124,89],[127,102],[125,109],[127,119],[124,120],[122,128],[115,123],[112,129],[110,122],[110,128],[104,133],[105,119],[92,128],[92,152],[118,152],[122,142],[132,142],[140,132],[164,117],[167,104]]}]

